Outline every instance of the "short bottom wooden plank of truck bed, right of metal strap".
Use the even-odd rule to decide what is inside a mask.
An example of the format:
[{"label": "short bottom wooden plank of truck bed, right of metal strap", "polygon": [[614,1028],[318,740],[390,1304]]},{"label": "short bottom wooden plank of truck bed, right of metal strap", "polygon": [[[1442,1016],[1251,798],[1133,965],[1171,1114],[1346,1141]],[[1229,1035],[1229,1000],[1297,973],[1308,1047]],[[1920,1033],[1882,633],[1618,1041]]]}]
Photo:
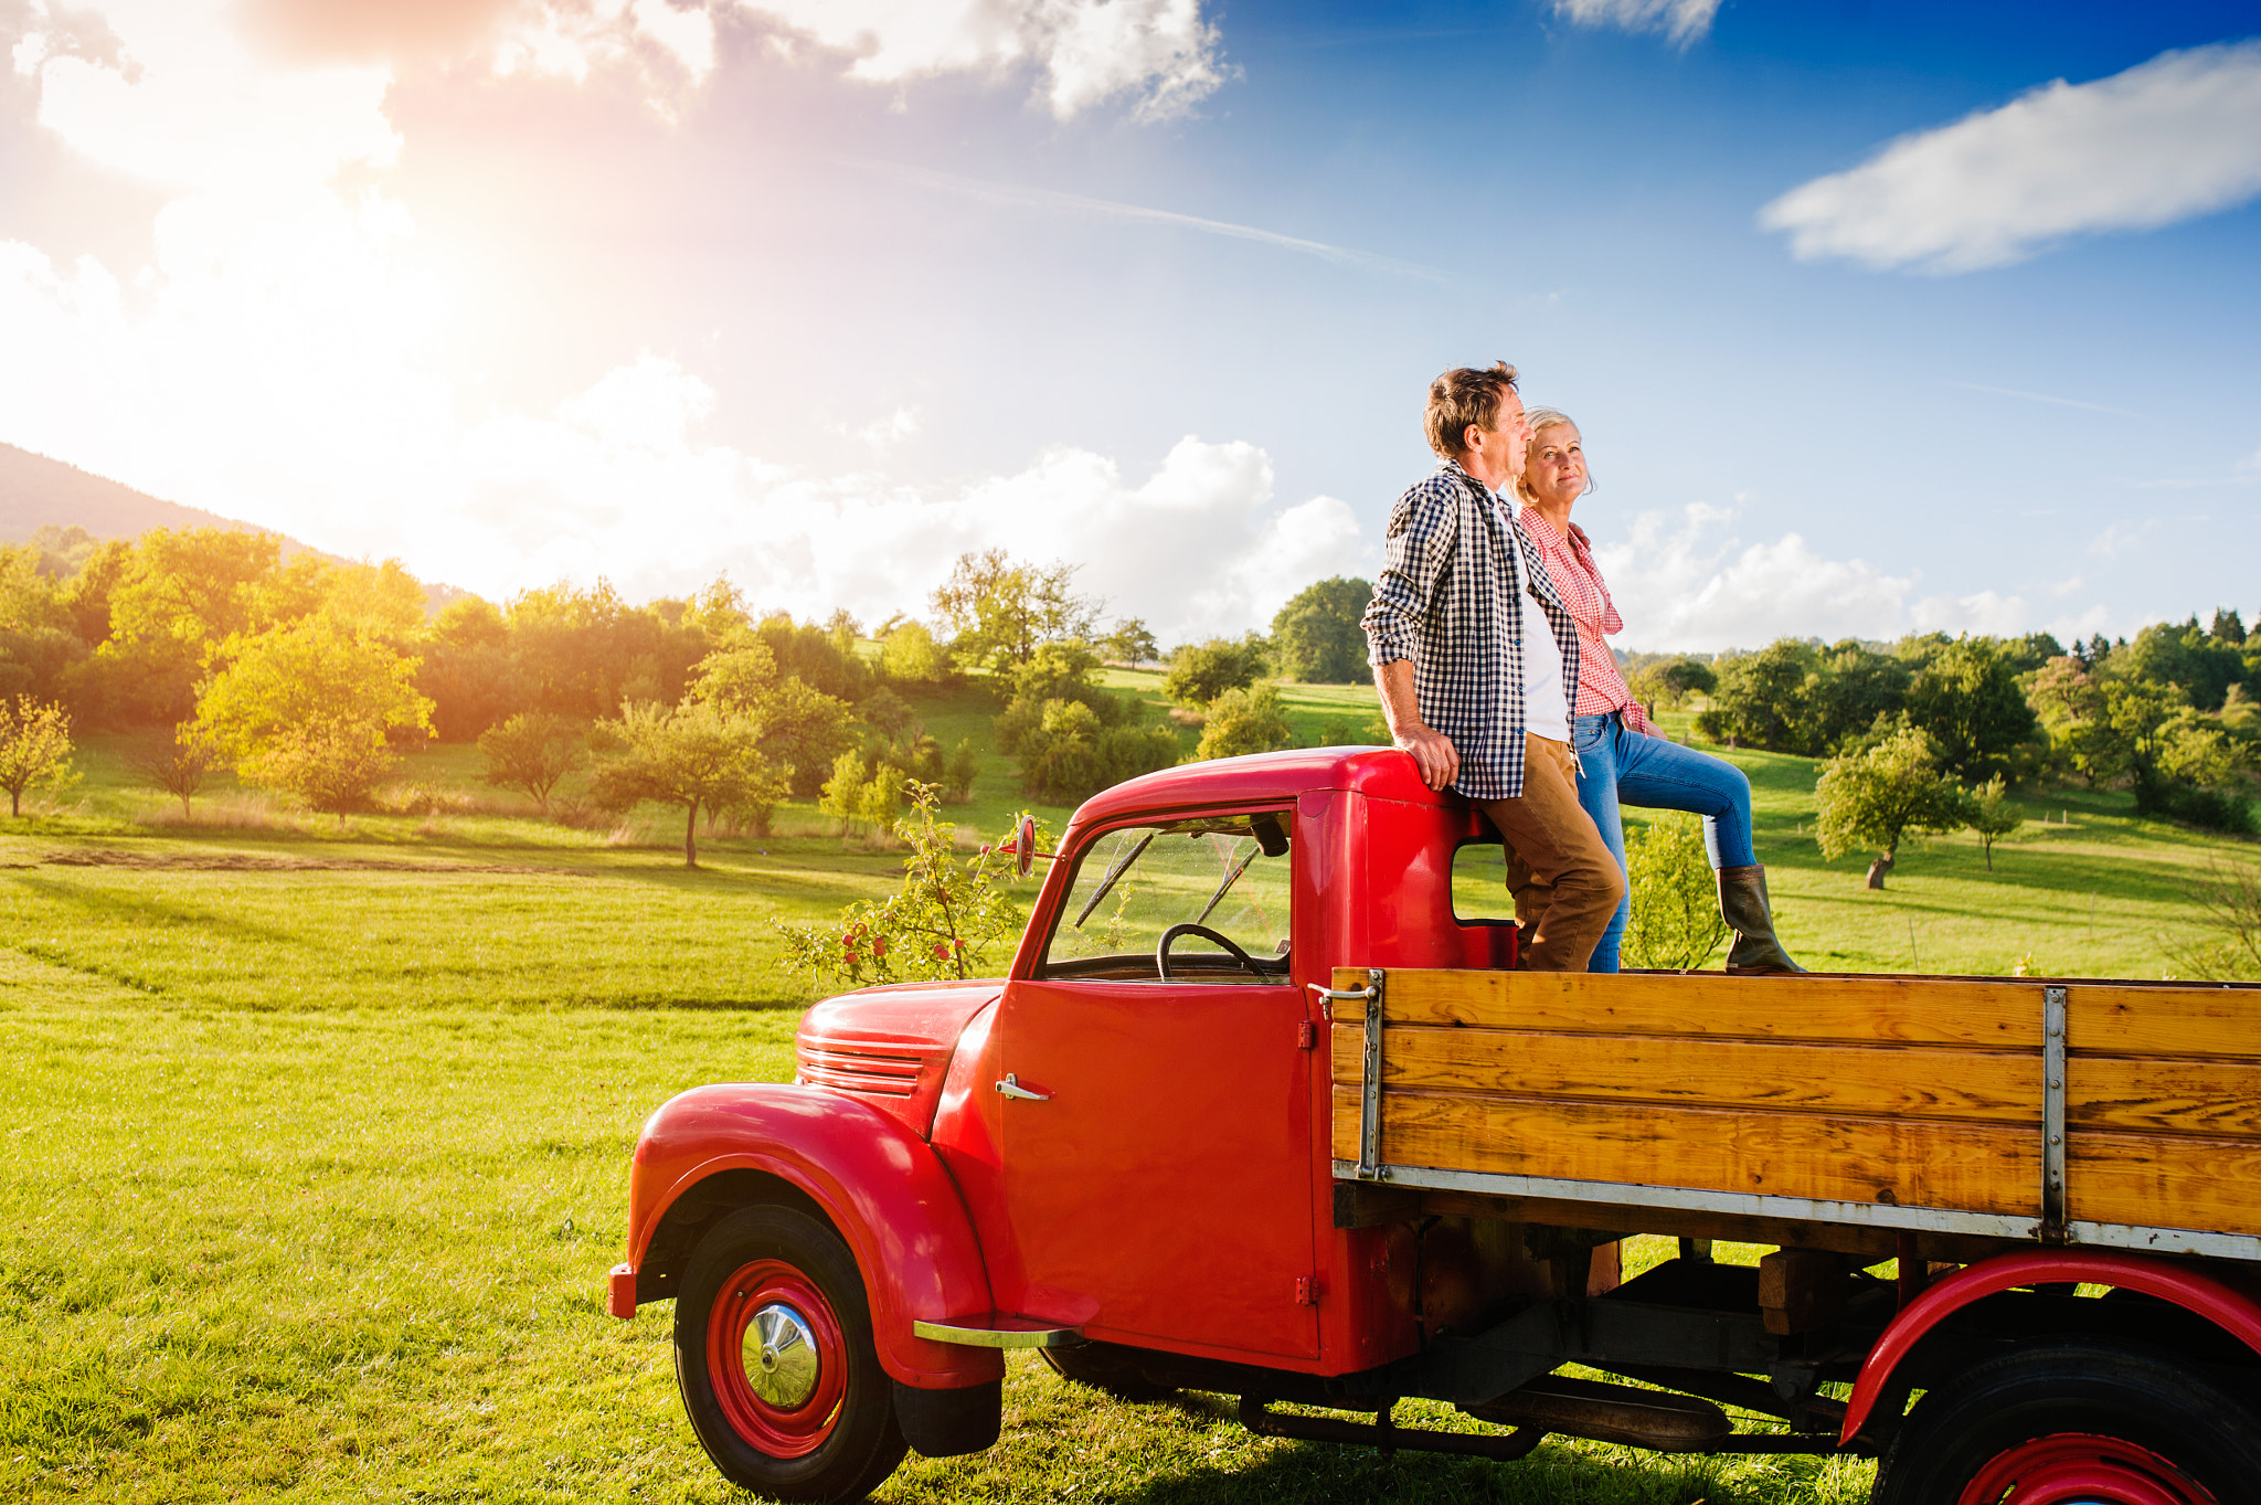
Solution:
[{"label": "short bottom wooden plank of truck bed, right of metal strap", "polygon": [[2091,1130],[2067,1134],[2064,1157],[2076,1223],[2261,1234],[2261,1143],[2250,1139]]}]

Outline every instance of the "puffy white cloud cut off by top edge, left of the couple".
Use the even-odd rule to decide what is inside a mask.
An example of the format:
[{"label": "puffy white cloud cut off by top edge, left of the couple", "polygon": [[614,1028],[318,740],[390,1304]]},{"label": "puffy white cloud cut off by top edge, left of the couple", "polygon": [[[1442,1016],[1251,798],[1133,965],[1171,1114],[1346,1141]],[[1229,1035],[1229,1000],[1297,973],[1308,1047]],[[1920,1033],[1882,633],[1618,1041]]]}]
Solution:
[{"label": "puffy white cloud cut off by top edge, left of the couple", "polygon": [[1201,0],[737,0],[825,47],[855,52],[873,84],[938,72],[1042,70],[1038,95],[1067,120],[1128,97],[1140,120],[1183,115],[1235,70]]}]

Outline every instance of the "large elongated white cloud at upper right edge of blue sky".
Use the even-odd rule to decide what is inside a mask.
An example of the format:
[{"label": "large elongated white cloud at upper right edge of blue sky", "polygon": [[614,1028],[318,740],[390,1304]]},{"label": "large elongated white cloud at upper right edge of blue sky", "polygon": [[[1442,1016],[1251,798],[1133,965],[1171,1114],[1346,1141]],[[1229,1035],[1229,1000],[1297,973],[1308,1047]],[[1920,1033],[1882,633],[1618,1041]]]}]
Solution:
[{"label": "large elongated white cloud at upper right edge of blue sky", "polygon": [[1793,188],[1759,224],[1807,260],[1974,271],[2069,235],[2148,230],[2261,192],[2261,41],[2162,52],[2091,84],[2044,84],[1902,136]]}]

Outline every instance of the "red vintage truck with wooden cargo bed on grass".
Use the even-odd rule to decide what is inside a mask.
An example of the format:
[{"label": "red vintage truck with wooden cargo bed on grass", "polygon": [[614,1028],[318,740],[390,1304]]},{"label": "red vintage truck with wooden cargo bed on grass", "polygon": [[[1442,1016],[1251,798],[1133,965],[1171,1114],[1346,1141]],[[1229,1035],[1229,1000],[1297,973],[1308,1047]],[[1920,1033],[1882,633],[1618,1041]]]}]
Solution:
[{"label": "red vintage truck with wooden cargo bed on grass", "polygon": [[644,1125],[610,1311],[674,1299],[739,1485],[986,1449],[1029,1347],[1275,1437],[2261,1498],[2256,990],[1515,972],[1497,836],[1386,748],[1140,777],[1051,856],[1008,976],[823,1001],[791,1085]]}]

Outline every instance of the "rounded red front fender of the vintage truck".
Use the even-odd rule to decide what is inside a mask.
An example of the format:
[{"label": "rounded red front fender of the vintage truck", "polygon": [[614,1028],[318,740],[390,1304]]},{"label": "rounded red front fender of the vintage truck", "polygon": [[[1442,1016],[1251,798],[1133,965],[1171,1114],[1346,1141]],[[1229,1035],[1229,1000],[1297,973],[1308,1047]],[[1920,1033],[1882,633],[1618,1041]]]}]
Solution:
[{"label": "rounded red front fender of the vintage truck", "polygon": [[[832,1218],[870,1297],[880,1365],[904,1385],[956,1390],[1004,1374],[1004,1356],[911,1333],[913,1320],[990,1311],[988,1272],[959,1184],[902,1121],[823,1087],[726,1082],[669,1098],[635,1141],[626,1290],[667,1209],[719,1171],[791,1182]],[[622,1279],[615,1277],[615,1290]],[[620,1311],[615,1299],[615,1315]]]}]

